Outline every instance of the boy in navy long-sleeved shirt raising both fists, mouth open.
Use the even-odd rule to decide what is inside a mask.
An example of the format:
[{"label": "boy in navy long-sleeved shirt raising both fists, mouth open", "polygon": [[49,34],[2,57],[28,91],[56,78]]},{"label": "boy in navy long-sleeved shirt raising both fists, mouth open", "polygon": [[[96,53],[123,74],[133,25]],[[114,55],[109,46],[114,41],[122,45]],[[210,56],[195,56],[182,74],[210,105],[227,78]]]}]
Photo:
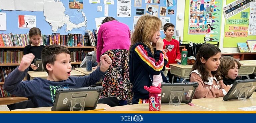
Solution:
[{"label": "boy in navy long-sleeved shirt raising both fists, mouth open", "polygon": [[112,60],[105,54],[101,56],[102,65],[89,76],[70,76],[70,51],[64,46],[49,45],[42,51],[43,66],[48,77],[22,81],[34,58],[32,53],[22,57],[20,65],[5,79],[4,90],[31,99],[36,107],[52,106],[58,88],[88,87],[95,84],[112,64]]}]

